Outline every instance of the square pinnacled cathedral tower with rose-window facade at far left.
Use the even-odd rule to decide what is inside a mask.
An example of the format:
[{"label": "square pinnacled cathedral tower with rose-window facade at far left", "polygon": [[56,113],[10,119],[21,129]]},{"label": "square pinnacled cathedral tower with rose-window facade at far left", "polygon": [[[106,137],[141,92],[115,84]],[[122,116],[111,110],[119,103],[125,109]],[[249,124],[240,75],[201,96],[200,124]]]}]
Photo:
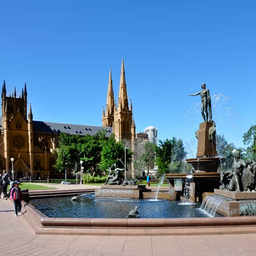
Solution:
[{"label": "square pinnacled cathedral tower with rose-window facade at far left", "polygon": [[[10,170],[12,165],[20,170],[29,170],[30,162],[28,154],[21,156],[21,150],[28,152],[28,122],[27,122],[27,85],[19,98],[16,96],[16,88],[10,97],[6,96],[5,81],[1,94],[2,105],[2,134],[0,143],[0,168]],[[13,162],[11,162],[13,159]],[[16,176],[16,173],[15,173]]]}]

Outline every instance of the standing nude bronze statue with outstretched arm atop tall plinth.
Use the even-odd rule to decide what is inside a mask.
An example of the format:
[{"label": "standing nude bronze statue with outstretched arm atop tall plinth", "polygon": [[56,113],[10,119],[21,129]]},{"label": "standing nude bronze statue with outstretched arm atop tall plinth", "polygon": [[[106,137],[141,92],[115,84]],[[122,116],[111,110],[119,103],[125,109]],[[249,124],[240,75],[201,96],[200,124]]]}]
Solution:
[{"label": "standing nude bronze statue with outstretched arm atop tall plinth", "polygon": [[197,96],[199,94],[201,95],[201,113],[203,116],[203,120],[204,122],[208,122],[208,110],[209,110],[209,122],[211,122],[212,121],[212,105],[211,105],[210,91],[209,89],[205,88],[205,84],[202,84],[201,87],[202,87],[201,91],[194,94],[190,94],[188,96]]}]

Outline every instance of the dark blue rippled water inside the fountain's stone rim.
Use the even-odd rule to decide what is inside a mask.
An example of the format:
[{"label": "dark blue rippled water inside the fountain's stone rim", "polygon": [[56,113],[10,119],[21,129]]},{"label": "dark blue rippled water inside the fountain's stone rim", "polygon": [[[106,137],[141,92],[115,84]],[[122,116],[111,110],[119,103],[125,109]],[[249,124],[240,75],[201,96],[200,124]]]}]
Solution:
[{"label": "dark blue rippled water inside the fountain's stone rim", "polygon": [[[182,204],[180,201],[154,199],[101,198],[91,194],[72,201],[72,197],[31,199],[39,211],[48,217],[71,218],[127,218],[131,209],[138,206],[139,218],[192,218],[211,217],[200,209],[200,203]],[[222,216],[218,213],[216,216]]]}]

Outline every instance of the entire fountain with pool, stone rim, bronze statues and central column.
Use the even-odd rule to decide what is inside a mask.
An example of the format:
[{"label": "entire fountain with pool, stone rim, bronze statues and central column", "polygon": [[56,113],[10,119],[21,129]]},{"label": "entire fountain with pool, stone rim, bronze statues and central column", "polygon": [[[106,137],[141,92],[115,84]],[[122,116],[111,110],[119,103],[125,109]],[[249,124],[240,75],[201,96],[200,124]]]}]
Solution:
[{"label": "entire fountain with pool, stone rim, bronze statues and central column", "polygon": [[[28,222],[31,223],[32,227],[35,228],[37,234],[66,234],[66,235],[193,235],[193,234],[233,234],[233,233],[250,233],[255,232],[256,228],[256,193],[253,191],[230,191],[232,189],[237,189],[237,184],[235,184],[233,177],[236,177],[238,168],[232,168],[232,183],[226,183],[225,179],[222,180],[222,188],[216,189],[220,185],[220,173],[218,172],[218,166],[221,163],[221,157],[217,156],[216,146],[215,146],[215,123],[212,121],[212,114],[210,114],[210,120],[208,122],[208,113],[206,116],[203,112],[209,107],[209,113],[211,113],[211,101],[209,91],[205,89],[205,85],[202,86],[203,90],[198,94],[201,95],[202,99],[202,115],[205,122],[200,124],[199,131],[196,132],[198,136],[198,153],[196,158],[186,159],[187,162],[191,163],[193,166],[193,177],[192,173],[187,175],[187,173],[168,173],[165,174],[165,177],[170,181],[170,198],[179,199],[183,195],[184,198],[189,195],[190,201],[202,201],[205,199],[202,204],[202,208],[205,209],[208,213],[215,215],[221,213],[225,216],[240,216],[240,215],[250,215],[250,217],[242,216],[239,218],[225,217],[225,218],[202,218],[202,216],[195,216],[196,218],[189,218],[187,213],[191,208],[195,207],[198,204],[194,205],[181,205],[180,208],[176,209],[175,215],[167,215],[169,213],[174,213],[173,205],[179,205],[178,202],[169,201],[169,200],[158,200],[157,202],[150,202],[151,200],[140,200],[145,198],[145,194],[150,194],[151,192],[143,192],[145,187],[140,187],[139,185],[113,185],[106,184],[101,186],[101,188],[96,191],[97,198],[87,200],[86,204],[82,201],[71,201],[67,199],[66,202],[73,204],[73,208],[62,207],[65,206],[63,199],[60,199],[60,207],[56,207],[56,201],[53,202],[53,207],[57,210],[66,210],[66,216],[60,216],[56,214],[55,216],[46,217],[43,213],[35,209],[30,204],[24,204],[23,206],[26,209],[25,218]],[[198,95],[197,94],[197,95]],[[236,163],[237,164],[237,163]],[[235,165],[234,165],[235,166]],[[254,173],[255,174],[254,170]],[[223,177],[225,177],[224,173]],[[241,174],[241,173],[240,173]],[[248,174],[248,173],[247,173]],[[250,173],[249,173],[250,174]],[[252,174],[249,175],[248,177]],[[222,178],[223,178],[222,177]],[[227,176],[226,176],[227,177]],[[111,179],[115,178],[112,176]],[[192,180],[193,178],[193,180]],[[189,182],[185,182],[185,179],[191,179]],[[182,191],[175,191],[174,183],[175,180],[182,180]],[[245,181],[248,181],[248,179]],[[116,182],[115,180],[110,180],[110,183]],[[120,184],[117,180],[117,184]],[[244,183],[246,189],[249,187],[255,186],[254,183],[250,184],[249,182]],[[188,190],[185,191],[185,188]],[[192,188],[192,189],[191,189]],[[230,190],[229,190],[230,189]],[[136,194],[136,190],[139,190],[137,195],[140,199],[110,199],[106,198],[110,195],[114,197],[131,197],[131,195]],[[245,190],[245,189],[244,189]],[[159,192],[159,190],[158,190]],[[214,192],[213,195],[207,195],[206,192]],[[128,195],[129,194],[129,195]],[[79,197],[80,198],[80,197]],[[122,204],[113,206],[119,200],[123,200]],[[134,201],[133,201],[134,200]],[[102,201],[100,206],[99,201]],[[124,207],[127,207],[128,202],[133,201],[132,206],[124,211],[122,216],[117,216],[117,213],[124,210]],[[159,203],[170,203],[167,207],[166,205],[163,208],[158,208]],[[145,205],[145,208],[140,205]],[[148,206],[148,204],[150,204]],[[84,211],[81,211],[80,214],[77,214],[78,205],[81,205]],[[88,205],[96,205],[95,212],[92,213],[91,210],[88,210]],[[134,206],[139,206],[139,210],[142,218],[130,219],[127,218],[127,214],[130,209]],[[49,208],[50,204],[39,201],[40,207]],[[120,209],[120,210],[119,210]],[[46,209],[47,210],[47,209]],[[85,211],[89,214],[85,218]],[[106,216],[106,211],[111,211],[113,215]],[[193,213],[197,212],[193,208]],[[156,215],[156,219],[153,219],[153,212],[156,212],[159,215]],[[51,212],[51,211],[50,211]],[[201,212],[201,211],[198,211]],[[162,213],[164,215],[162,215]],[[185,214],[184,214],[185,213]],[[46,213],[45,213],[46,214]],[[74,217],[71,214],[75,214]],[[148,215],[146,215],[148,214]],[[73,217],[73,219],[72,219]],[[184,218],[182,218],[184,217]],[[146,219],[147,218],[147,219]]]}]

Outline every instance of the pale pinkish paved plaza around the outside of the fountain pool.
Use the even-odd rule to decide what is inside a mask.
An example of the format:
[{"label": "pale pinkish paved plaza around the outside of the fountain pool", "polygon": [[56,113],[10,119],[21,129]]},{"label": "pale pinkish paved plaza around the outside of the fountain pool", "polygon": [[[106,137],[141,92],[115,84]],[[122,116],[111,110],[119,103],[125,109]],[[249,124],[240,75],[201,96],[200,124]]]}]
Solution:
[{"label": "pale pinkish paved plaza around the outside of the fountain pool", "polygon": [[[53,185],[73,189],[85,185]],[[86,186],[86,188],[91,186]],[[24,211],[24,209],[22,209]],[[26,214],[26,213],[24,213]],[[0,256],[256,256],[256,234],[194,236],[35,235],[0,199]]]}]

